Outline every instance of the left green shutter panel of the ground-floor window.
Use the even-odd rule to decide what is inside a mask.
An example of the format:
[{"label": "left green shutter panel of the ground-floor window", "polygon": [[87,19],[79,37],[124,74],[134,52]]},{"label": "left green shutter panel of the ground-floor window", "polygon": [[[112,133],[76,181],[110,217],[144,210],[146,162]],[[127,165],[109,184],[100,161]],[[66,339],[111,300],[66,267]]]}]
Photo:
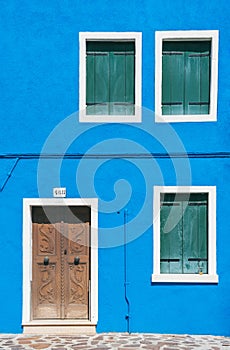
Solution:
[{"label": "left green shutter panel of the ground-floor window", "polygon": [[162,203],[160,227],[160,272],[182,273],[181,203]]}]

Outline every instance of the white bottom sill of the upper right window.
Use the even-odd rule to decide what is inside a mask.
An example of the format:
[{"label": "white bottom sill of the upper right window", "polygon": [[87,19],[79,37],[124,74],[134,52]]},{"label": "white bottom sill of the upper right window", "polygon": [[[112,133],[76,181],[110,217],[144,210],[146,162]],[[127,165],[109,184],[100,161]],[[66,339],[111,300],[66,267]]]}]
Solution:
[{"label": "white bottom sill of the upper right window", "polygon": [[177,115],[162,115],[157,114],[155,117],[156,123],[183,123],[183,122],[216,122],[216,114],[177,114]]}]

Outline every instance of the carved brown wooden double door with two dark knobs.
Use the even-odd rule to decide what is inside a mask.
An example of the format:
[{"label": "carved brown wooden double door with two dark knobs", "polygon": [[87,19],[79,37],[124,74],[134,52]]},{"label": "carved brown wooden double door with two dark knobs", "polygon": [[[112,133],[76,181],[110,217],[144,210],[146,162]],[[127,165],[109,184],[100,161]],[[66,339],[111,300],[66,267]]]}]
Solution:
[{"label": "carved brown wooden double door with two dark knobs", "polygon": [[33,223],[33,319],[89,318],[89,223]]}]

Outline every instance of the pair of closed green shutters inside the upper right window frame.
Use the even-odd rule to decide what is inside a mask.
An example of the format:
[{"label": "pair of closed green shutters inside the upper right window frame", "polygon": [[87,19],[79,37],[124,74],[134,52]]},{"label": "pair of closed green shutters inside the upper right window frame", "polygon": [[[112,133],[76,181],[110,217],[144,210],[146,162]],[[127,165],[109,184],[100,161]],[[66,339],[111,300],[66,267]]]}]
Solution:
[{"label": "pair of closed green shutters inside the upper right window frame", "polygon": [[208,114],[209,41],[163,42],[162,114]]}]

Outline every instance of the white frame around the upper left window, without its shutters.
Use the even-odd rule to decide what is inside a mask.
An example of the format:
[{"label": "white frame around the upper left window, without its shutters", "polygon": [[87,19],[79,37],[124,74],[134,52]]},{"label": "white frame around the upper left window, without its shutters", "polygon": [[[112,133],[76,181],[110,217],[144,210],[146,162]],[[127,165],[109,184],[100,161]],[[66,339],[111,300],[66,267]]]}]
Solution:
[{"label": "white frame around the upper left window, without its shutters", "polygon": [[[86,41],[135,41],[135,114],[134,115],[87,115],[86,114]],[[142,33],[138,32],[81,32],[79,33],[79,120],[88,123],[141,122],[142,93]]]}]

